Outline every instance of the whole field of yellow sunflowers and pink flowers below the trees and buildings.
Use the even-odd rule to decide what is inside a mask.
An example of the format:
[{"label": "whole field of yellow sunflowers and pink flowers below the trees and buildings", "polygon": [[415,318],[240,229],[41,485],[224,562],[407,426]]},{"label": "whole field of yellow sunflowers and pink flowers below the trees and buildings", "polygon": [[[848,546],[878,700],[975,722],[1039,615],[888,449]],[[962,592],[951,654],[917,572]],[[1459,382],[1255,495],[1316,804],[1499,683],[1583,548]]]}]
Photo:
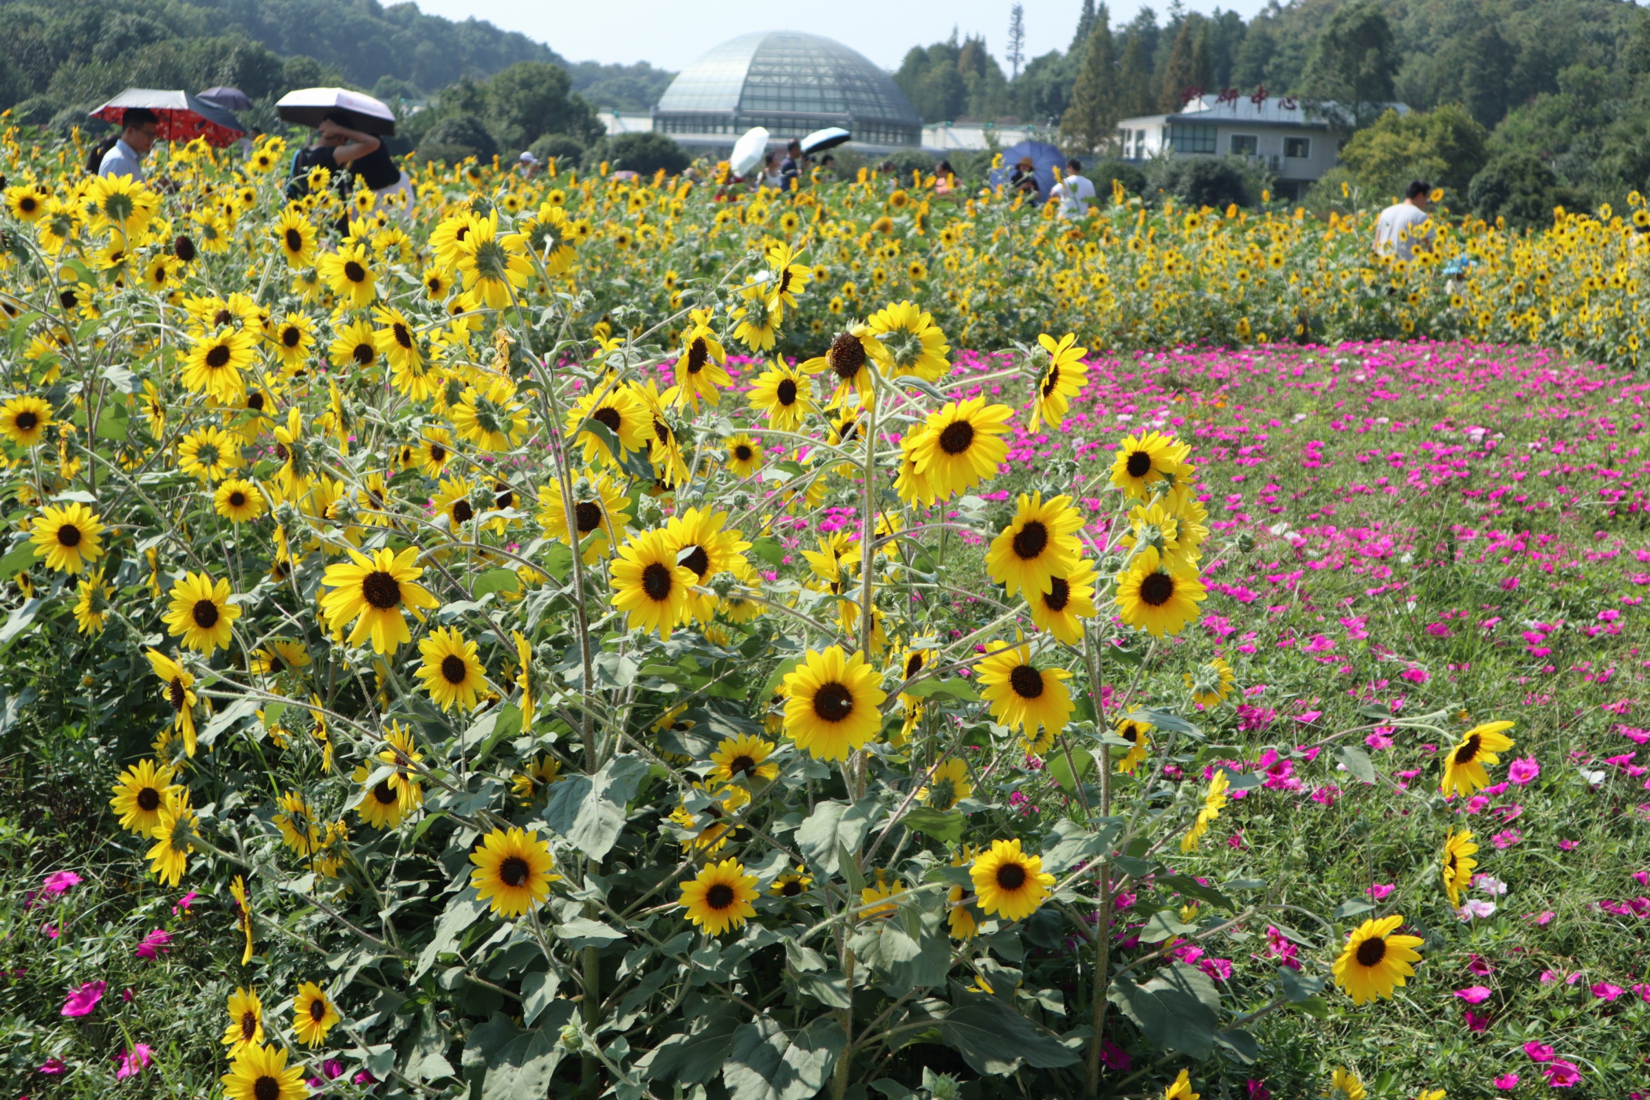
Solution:
[{"label": "whole field of yellow sunflowers and pink flowers below the trees and buildings", "polygon": [[5,135],[15,1095],[1650,1093],[1642,206],[76,152]]}]

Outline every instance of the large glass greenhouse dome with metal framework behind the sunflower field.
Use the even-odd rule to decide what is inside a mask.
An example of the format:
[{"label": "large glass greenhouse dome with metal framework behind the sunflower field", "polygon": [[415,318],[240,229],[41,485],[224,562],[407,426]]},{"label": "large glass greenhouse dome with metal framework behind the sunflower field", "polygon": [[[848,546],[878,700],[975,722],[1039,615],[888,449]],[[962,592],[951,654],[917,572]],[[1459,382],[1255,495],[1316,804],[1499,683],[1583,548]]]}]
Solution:
[{"label": "large glass greenhouse dome with metal framework behind the sunflower field", "polygon": [[800,31],[729,38],[670,82],[658,112],[795,114],[922,125],[894,79],[865,54]]}]

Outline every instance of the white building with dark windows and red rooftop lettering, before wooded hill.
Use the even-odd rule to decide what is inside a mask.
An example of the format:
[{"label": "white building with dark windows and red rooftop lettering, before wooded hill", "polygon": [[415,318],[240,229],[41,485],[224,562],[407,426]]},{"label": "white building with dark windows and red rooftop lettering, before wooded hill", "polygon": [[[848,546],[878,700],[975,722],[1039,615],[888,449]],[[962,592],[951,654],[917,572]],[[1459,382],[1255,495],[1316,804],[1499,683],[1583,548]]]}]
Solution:
[{"label": "white building with dark windows and red rooftop lettering, before wooded hill", "polygon": [[[1406,110],[1398,106],[1399,112]],[[1340,139],[1322,119],[1308,119],[1287,96],[1256,104],[1249,96],[1200,96],[1175,114],[1152,114],[1117,124],[1124,160],[1152,157],[1252,157],[1277,176],[1280,198],[1300,198],[1313,180],[1335,167]]]}]

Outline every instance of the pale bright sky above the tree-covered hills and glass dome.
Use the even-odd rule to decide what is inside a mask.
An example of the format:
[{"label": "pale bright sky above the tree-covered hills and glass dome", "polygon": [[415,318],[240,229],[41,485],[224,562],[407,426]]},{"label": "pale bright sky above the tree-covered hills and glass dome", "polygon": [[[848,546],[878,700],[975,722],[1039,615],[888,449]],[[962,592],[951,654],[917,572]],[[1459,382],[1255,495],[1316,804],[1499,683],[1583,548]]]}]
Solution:
[{"label": "pale bright sky above the tree-covered hills and glass dome", "polygon": [[[711,46],[757,30],[795,30],[828,35],[886,69],[898,69],[911,46],[940,41],[955,23],[960,36],[985,35],[1003,69],[1011,0],[581,0],[523,3],[521,0],[416,0],[419,10],[449,20],[475,16],[503,30],[521,31],[549,45],[569,61],[650,61],[680,71]],[[1077,25],[1081,0],[1023,0],[1026,58],[1064,49]],[[1155,5],[1162,21],[1167,3]],[[1236,10],[1244,18],[1264,0],[1190,0],[1188,10]],[[1140,10],[1138,0],[1110,7],[1112,25]]]}]

